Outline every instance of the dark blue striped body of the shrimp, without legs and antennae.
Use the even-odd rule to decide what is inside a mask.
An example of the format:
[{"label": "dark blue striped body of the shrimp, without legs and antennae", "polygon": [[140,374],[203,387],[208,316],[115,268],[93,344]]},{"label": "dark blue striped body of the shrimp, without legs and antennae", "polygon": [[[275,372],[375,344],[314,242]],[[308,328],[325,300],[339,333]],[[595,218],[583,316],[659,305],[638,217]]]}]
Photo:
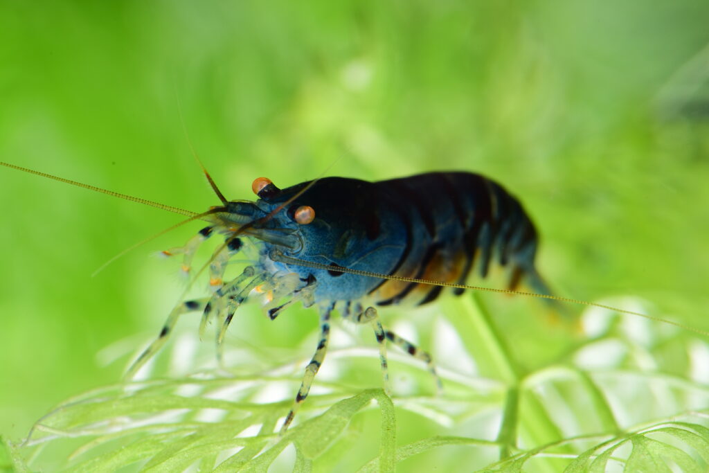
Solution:
[{"label": "dark blue striped body of the shrimp, without legs and antennae", "polygon": [[[266,215],[308,184],[259,199],[256,206]],[[296,223],[298,206],[311,206],[314,221]],[[442,289],[337,272],[338,266],[464,283],[474,265],[485,277],[496,263],[511,268],[510,287],[527,277],[547,292],[534,268],[537,233],[530,219],[513,196],[479,174],[436,172],[381,182],[327,177],[255,228],[286,230],[300,245],[279,247],[285,255],[333,267],[275,262],[269,258],[274,244],[262,243],[261,269],[295,272],[303,281],[315,277],[316,302],[369,297],[378,305],[425,304]]]}]

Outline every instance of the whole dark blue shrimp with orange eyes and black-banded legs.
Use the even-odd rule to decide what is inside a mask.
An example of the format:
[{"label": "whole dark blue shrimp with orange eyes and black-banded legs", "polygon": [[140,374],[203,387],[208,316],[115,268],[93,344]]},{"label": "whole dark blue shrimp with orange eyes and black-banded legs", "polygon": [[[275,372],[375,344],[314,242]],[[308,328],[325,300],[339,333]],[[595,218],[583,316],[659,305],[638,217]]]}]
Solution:
[{"label": "whole dark blue shrimp with orange eyes and black-banded legs", "polygon": [[[428,365],[440,386],[428,353],[386,330],[376,307],[427,304],[443,288],[396,278],[464,284],[471,273],[484,278],[491,265],[499,265],[508,270],[510,289],[525,279],[532,289],[549,293],[534,265],[537,233],[532,222],[517,199],[479,174],[432,172],[381,182],[326,177],[287,189],[259,178],[253,184],[259,197],[255,202],[227,201],[213,187],[223,205],[199,214],[209,226],[184,247],[164,252],[181,254],[182,267],[189,271],[199,244],[215,233],[225,235],[208,263],[213,293],[174,308],[128,375],[160,348],[182,313],[201,311],[201,330],[216,321],[220,356],[225,330],[255,289],[271,294],[266,309],[272,319],[296,301],[316,304],[320,340],[281,432],[308,396],[325,359],[333,310],[373,328],[385,389],[387,340]],[[242,238],[255,240],[258,259],[234,279],[224,280]]]}]

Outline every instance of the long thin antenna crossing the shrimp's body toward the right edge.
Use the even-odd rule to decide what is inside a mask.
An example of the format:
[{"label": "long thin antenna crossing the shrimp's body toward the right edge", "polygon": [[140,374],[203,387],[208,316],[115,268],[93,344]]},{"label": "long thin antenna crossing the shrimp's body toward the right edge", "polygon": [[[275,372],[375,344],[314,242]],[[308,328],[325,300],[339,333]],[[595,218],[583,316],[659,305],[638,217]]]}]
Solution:
[{"label": "long thin antenna crossing the shrimp's body toward the right edge", "polygon": [[[271,252],[271,254],[269,255],[269,257],[271,257],[271,259],[274,261],[289,263],[291,265],[306,266],[306,267],[312,267],[315,269],[325,269],[326,271],[330,271],[333,269],[333,267],[331,267],[331,266],[323,265],[318,262],[306,261],[306,260],[301,260],[300,258],[286,256],[280,250],[277,250],[277,249],[273,250]],[[352,269],[352,268],[339,267],[339,266],[337,267],[337,272],[348,272],[350,274],[357,274],[358,276],[376,277],[378,279],[389,279],[391,281],[415,282],[417,284],[428,284],[429,286],[452,287],[452,288],[457,288],[457,289],[470,289],[471,291],[494,292],[496,294],[512,294],[515,296],[536,297],[537,299],[550,299],[552,301],[568,302],[570,304],[579,304],[581,306],[591,306],[591,307],[604,308],[608,311],[615,311],[618,313],[626,313],[630,316],[638,316],[638,317],[642,317],[642,318],[647,318],[647,319],[649,319],[651,321],[655,321],[655,322],[668,323],[669,325],[674,325],[676,327],[683,328],[684,330],[689,330],[691,332],[698,333],[699,335],[709,337],[708,331],[701,330],[700,328],[690,327],[689,325],[684,325],[683,323],[669,321],[669,320],[667,320],[665,318],[661,318],[661,317],[649,316],[649,315],[647,315],[647,313],[628,311],[624,308],[606,306],[605,304],[598,304],[596,302],[581,301],[580,299],[571,299],[570,297],[552,296],[551,294],[538,294],[536,292],[527,292],[527,291],[515,291],[514,289],[496,289],[493,287],[469,286],[467,284],[456,284],[453,282],[435,281],[433,279],[420,279],[420,278],[416,278],[416,277],[394,276],[393,274],[381,274],[381,273],[377,273],[377,272],[362,271],[361,269]]]}]

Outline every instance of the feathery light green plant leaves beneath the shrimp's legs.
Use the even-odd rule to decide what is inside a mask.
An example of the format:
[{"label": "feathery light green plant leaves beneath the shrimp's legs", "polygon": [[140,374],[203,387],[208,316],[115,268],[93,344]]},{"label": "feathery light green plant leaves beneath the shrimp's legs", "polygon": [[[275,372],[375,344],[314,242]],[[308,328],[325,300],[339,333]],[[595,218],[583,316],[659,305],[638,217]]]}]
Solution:
[{"label": "feathery light green plant leaves beneath the shrimp's legs", "polygon": [[[282,437],[277,428],[290,406],[288,394],[266,402],[258,393],[297,378],[199,372],[119,384],[58,406],[23,445],[5,443],[0,458],[6,471],[29,471],[24,459],[42,467],[45,451],[66,444],[67,461],[57,469],[72,472],[129,465],[151,473],[415,471],[419,459],[455,467],[445,465],[450,449],[471,459],[469,469],[485,472],[701,472],[709,466],[709,387],[671,372],[664,360],[678,346],[699,343],[689,335],[649,323],[646,336],[638,337],[625,318],[606,316],[601,325],[582,324],[585,336],[561,359],[525,372],[484,306],[461,306],[451,323],[458,330],[478,328],[465,334],[467,350],[475,355],[474,347],[485,346],[504,379],[467,379],[443,357],[442,396],[390,398],[381,389],[347,386],[342,374],[316,383],[325,392],[308,398]],[[598,314],[583,320],[589,316]],[[348,350],[335,347],[330,357]],[[377,356],[372,348],[364,357],[374,367]],[[697,350],[686,356],[681,369],[705,361]],[[415,364],[396,363],[396,369],[412,379],[425,372]],[[422,386],[430,381],[421,380]],[[378,427],[368,412],[379,413]],[[410,416],[458,435],[422,433],[400,445],[398,438],[411,438],[397,431],[400,419]]]}]

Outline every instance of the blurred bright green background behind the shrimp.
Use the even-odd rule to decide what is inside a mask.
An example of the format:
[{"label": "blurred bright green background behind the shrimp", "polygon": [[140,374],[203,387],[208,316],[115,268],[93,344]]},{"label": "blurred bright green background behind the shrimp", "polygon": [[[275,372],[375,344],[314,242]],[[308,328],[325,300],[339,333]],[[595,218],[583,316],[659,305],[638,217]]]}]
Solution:
[{"label": "blurred bright green background behind the shrimp", "polygon": [[[232,199],[262,175],[481,172],[525,204],[559,294],[639,296],[709,329],[708,24],[695,0],[6,1],[0,160],[202,211],[217,201],[180,103]],[[179,297],[177,265],[150,256],[200,227],[91,277],[180,217],[6,168],[0,203],[0,433],[17,439],[120,378]],[[551,356],[542,306],[486,300],[520,359]],[[230,343],[316,328],[245,314]]]}]

